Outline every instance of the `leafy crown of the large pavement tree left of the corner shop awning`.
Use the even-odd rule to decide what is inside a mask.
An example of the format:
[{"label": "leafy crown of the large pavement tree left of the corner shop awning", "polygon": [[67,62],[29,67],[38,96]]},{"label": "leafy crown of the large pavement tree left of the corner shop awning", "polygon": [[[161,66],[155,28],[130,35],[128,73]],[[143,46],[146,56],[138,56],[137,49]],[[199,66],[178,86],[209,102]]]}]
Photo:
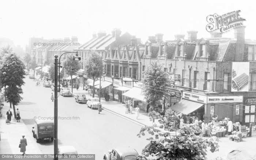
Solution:
[{"label": "leafy crown of the large pavement tree left of the corner shop awning", "polygon": [[142,75],[142,94],[150,106],[155,107],[156,102],[162,100],[166,94],[167,73],[162,71],[162,65],[158,62],[151,62]]}]

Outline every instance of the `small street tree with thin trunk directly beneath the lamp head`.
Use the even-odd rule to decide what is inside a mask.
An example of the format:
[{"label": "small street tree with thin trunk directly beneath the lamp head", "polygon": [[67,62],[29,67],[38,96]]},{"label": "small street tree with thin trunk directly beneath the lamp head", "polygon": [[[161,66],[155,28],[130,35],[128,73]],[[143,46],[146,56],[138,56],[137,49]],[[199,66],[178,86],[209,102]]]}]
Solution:
[{"label": "small street tree with thin trunk directly beneath the lamp head", "polygon": [[81,66],[78,61],[73,60],[72,55],[68,55],[63,62],[63,68],[65,69],[65,73],[71,76],[71,92],[73,93],[72,76],[77,74],[76,72],[81,68]]}]

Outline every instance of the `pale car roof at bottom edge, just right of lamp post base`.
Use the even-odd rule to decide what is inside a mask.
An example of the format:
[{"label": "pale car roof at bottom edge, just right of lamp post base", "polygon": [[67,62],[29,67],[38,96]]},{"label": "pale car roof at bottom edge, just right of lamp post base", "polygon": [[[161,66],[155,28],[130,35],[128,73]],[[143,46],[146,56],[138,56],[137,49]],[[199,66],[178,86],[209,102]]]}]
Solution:
[{"label": "pale car roof at bottom edge, just right of lamp post base", "polygon": [[72,155],[78,155],[76,149],[74,146],[59,146],[58,147],[58,155],[59,156],[62,156],[59,158],[59,160],[79,160],[79,158],[72,158],[72,157],[69,157],[72,156]]}]

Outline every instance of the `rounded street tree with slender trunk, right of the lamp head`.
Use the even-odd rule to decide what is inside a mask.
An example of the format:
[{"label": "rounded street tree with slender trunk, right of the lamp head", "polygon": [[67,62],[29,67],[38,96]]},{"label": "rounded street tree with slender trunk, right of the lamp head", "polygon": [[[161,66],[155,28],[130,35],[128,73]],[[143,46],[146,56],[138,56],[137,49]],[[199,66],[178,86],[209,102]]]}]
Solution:
[{"label": "rounded street tree with slender trunk, right of the lamp head", "polygon": [[[100,54],[92,52],[85,62],[85,71],[87,76],[93,78],[93,97],[95,93],[94,83],[95,79],[100,76],[100,73],[103,74],[103,61]],[[101,67],[100,67],[101,66]]]}]

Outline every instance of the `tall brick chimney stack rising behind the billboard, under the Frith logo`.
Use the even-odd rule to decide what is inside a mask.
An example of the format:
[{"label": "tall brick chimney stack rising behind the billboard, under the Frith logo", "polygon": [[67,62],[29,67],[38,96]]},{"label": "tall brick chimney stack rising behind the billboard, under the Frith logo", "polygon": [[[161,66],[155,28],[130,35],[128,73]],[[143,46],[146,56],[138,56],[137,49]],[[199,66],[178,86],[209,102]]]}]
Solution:
[{"label": "tall brick chimney stack rising behind the billboard, under the Frith logo", "polygon": [[234,37],[236,41],[236,61],[244,60],[245,26],[235,28]]}]

